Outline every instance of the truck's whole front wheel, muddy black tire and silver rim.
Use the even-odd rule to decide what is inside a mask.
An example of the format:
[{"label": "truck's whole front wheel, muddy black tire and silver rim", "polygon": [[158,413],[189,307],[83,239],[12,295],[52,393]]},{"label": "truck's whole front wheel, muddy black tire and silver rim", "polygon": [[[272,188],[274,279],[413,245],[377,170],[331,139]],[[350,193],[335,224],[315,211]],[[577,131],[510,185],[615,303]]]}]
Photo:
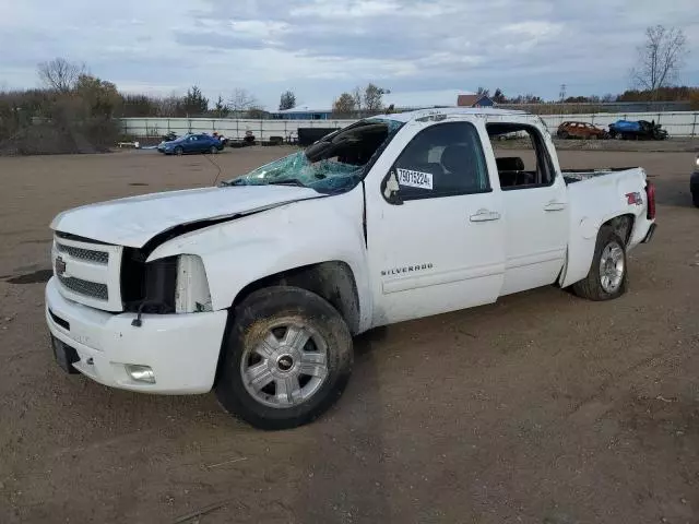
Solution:
[{"label": "truck's whole front wheel, muddy black tire and silver rim", "polygon": [[260,429],[308,424],[342,395],[352,372],[347,324],[318,295],[297,287],[254,291],[235,310],[215,393]]}]

